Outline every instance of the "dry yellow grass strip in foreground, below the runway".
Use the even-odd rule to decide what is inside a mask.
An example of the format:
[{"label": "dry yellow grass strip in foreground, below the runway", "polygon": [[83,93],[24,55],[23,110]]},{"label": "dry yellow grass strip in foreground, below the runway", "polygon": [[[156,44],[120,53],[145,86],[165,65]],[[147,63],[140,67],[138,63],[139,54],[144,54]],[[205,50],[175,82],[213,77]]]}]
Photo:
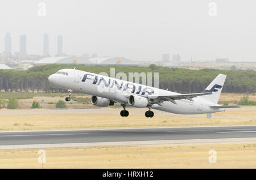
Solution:
[{"label": "dry yellow grass strip in foreground, below the runway", "polygon": [[[0,168],[42,168],[38,157],[38,149],[0,151]],[[43,168],[256,168],[256,143],[46,149]]]}]

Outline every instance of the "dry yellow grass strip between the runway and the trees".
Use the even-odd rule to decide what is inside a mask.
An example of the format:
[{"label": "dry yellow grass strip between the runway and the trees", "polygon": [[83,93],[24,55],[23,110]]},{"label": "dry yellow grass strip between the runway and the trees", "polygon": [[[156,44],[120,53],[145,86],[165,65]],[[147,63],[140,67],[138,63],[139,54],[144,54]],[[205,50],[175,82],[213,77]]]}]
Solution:
[{"label": "dry yellow grass strip between the runway and the trees", "polygon": [[[256,107],[243,107],[206,115],[177,115],[154,110],[154,118],[144,117],[145,108],[130,108],[121,117],[119,108],[63,110],[0,110],[0,130],[49,130],[69,128],[160,127],[203,125],[256,125]],[[139,119],[139,121],[138,121]]]}]

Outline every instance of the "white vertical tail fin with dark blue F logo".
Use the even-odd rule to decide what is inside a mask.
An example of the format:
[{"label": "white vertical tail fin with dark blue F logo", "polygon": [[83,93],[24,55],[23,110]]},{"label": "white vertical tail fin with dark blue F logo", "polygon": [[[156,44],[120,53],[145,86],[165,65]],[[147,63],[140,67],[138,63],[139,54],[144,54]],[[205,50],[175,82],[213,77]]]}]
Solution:
[{"label": "white vertical tail fin with dark blue F logo", "polygon": [[222,87],[224,85],[226,75],[219,74],[213,81],[208,85],[208,87],[203,92],[210,92],[212,95],[202,96],[215,104],[218,103],[218,98],[220,97]]}]

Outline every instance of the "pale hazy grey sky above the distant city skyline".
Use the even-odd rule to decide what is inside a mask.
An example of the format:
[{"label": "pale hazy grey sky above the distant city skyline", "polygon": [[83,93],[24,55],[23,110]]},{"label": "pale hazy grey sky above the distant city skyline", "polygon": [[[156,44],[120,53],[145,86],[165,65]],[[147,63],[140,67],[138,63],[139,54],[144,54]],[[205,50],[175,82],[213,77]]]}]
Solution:
[{"label": "pale hazy grey sky above the distant city skyline", "polygon": [[[39,2],[46,16],[39,16]],[[209,3],[217,5],[210,16]],[[57,53],[57,35],[63,52],[98,53],[136,60],[162,59],[181,54],[182,60],[256,62],[256,1],[1,1],[0,52],[5,33],[12,52],[19,52],[19,35],[27,35],[27,53],[43,54],[43,34],[49,35],[50,53]]]}]

